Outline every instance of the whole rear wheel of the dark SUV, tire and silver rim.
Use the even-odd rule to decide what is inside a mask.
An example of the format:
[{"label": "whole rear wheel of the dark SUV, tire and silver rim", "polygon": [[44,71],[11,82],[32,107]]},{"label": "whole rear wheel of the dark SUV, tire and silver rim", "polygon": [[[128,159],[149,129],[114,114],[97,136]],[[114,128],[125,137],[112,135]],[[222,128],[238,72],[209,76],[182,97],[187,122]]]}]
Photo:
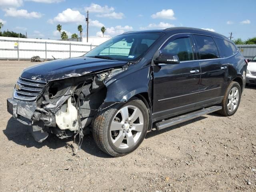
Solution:
[{"label": "whole rear wheel of the dark SUV, tire and silver rim", "polygon": [[[236,90],[236,91],[234,91]],[[233,94],[237,94],[234,95]],[[236,113],[236,110],[239,107],[240,100],[241,100],[242,92],[241,87],[238,82],[232,81],[228,88],[226,89],[226,92],[224,94],[224,98],[222,100],[222,110],[219,110],[218,113],[223,116],[231,116]],[[232,110],[232,105],[234,104],[235,108]],[[230,107],[231,106],[231,107]]]}]

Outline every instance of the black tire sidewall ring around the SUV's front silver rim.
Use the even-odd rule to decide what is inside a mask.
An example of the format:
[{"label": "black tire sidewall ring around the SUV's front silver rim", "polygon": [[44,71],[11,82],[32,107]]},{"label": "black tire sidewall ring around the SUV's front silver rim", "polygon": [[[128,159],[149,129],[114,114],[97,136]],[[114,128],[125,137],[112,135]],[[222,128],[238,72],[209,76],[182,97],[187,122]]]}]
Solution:
[{"label": "black tire sidewall ring around the SUV's front silver rim", "polygon": [[[143,122],[144,122],[143,131],[142,131],[142,133],[140,135],[140,138],[134,144],[134,146],[132,146],[131,148],[120,149],[120,148],[117,148],[116,146],[114,146],[114,144],[111,141],[111,138],[110,138],[110,126],[111,126],[111,122],[114,119],[114,116],[116,115],[118,110],[120,110],[124,106],[129,106],[129,105],[138,107],[140,109],[140,111],[142,112]],[[116,154],[117,156],[122,156],[122,155],[128,154],[128,153],[134,151],[136,148],[138,148],[138,146],[144,140],[144,138],[146,136],[146,133],[147,133],[147,130],[148,130],[149,115],[148,115],[148,110],[146,108],[146,105],[141,100],[139,100],[139,99],[133,99],[130,102],[127,102],[126,104],[119,105],[118,108],[113,109],[108,117],[109,118],[108,118],[108,120],[107,120],[107,122],[105,124],[104,132],[103,132],[104,140],[107,141],[106,146],[107,146],[108,150],[110,150],[111,153]]]}]

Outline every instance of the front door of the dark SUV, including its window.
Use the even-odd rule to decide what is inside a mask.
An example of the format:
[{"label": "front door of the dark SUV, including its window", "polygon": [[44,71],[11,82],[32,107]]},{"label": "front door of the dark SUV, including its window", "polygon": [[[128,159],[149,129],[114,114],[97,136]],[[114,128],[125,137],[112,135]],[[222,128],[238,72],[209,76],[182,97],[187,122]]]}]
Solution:
[{"label": "front door of the dark SUV, including its window", "polygon": [[160,52],[178,55],[180,63],[153,66],[153,121],[193,108],[200,84],[201,69],[190,34],[171,37]]}]

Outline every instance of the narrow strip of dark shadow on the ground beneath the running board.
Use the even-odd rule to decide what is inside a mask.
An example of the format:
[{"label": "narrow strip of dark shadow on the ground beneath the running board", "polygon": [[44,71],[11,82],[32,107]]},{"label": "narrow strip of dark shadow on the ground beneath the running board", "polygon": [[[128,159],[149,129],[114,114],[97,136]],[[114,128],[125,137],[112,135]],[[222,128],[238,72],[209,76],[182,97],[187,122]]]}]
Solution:
[{"label": "narrow strip of dark shadow on the ground beneath the running board", "polygon": [[192,124],[194,122],[197,122],[197,121],[200,121],[200,120],[203,120],[207,117],[204,117],[204,116],[200,116],[198,118],[195,118],[195,119],[192,119],[192,120],[189,120],[189,121],[186,121],[186,122],[183,122],[183,123],[180,123],[180,124],[177,124],[177,125],[174,125],[174,126],[170,126],[168,128],[164,128],[162,130],[156,130],[156,129],[152,129],[150,130],[147,134],[146,134],[146,139],[148,138],[151,138],[153,136],[156,136],[156,135],[159,135],[159,134],[162,134],[162,133],[165,133],[165,132],[168,132],[168,131],[171,131],[171,130],[174,130],[176,128],[180,128],[182,126],[185,126],[185,125],[188,125],[188,124]]}]

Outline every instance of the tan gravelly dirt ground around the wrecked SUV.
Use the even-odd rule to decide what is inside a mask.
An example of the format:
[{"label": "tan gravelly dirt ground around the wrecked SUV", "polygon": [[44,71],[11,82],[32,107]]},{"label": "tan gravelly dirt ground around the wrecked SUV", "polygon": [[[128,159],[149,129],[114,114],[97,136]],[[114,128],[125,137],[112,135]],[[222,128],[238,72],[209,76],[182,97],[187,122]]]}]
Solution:
[{"label": "tan gravelly dirt ground around the wrecked SUV", "polygon": [[6,110],[18,76],[32,64],[0,61],[0,191],[256,191],[256,86],[246,87],[234,116],[150,131],[120,158],[88,135],[72,155],[72,139],[50,135],[37,143]]}]

